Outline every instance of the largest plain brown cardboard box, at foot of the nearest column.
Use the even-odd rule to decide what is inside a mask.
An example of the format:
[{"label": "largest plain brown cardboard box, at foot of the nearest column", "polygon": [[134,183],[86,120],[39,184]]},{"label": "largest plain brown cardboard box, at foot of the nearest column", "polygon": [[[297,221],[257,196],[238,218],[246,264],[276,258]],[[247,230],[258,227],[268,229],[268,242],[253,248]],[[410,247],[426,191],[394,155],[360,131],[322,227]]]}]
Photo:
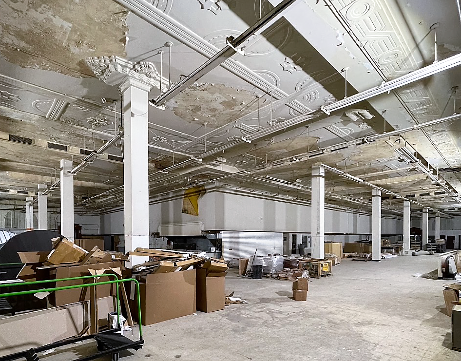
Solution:
[{"label": "largest plain brown cardboard box, at foot of the nearest column", "polygon": [[[151,273],[142,277],[141,282],[139,290],[143,325],[195,312],[195,269]],[[136,310],[137,306],[131,308]]]}]

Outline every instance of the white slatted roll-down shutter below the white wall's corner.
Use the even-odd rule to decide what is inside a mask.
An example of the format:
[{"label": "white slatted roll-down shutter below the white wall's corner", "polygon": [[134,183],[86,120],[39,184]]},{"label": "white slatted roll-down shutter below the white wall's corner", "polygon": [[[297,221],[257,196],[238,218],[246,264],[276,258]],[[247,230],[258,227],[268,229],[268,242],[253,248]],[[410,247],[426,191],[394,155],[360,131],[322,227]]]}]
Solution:
[{"label": "white slatted roll-down shutter below the white wall's corner", "polygon": [[250,257],[258,248],[257,255],[283,254],[283,234],[279,232],[222,231],[223,258]]}]

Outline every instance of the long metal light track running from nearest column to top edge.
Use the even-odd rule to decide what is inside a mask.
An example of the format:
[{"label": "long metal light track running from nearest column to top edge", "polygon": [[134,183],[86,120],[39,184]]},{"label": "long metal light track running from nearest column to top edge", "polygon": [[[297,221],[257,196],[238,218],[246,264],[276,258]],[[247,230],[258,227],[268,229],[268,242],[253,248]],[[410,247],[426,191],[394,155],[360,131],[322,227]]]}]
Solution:
[{"label": "long metal light track running from nearest column to top edge", "polygon": [[261,34],[266,30],[270,25],[272,25],[276,20],[280,19],[282,14],[288,9],[297,0],[283,0],[280,4],[275,6],[267,15],[265,15],[261,20],[256,22],[253,26],[250,26],[245,32],[243,32],[237,38],[232,36],[226,38],[227,45],[205,63],[195,69],[191,74],[182,79],[179,83],[173,86],[164,94],[158,96],[156,99],[149,100],[149,103],[154,106],[160,106],[164,104],[169,99],[173,98],[175,95],[178,95],[184,91],[188,86],[192,85],[198,79],[200,79],[205,74],[208,74],[223,63],[226,59],[233,56],[235,53],[240,52],[239,48],[248,41],[254,35]]}]

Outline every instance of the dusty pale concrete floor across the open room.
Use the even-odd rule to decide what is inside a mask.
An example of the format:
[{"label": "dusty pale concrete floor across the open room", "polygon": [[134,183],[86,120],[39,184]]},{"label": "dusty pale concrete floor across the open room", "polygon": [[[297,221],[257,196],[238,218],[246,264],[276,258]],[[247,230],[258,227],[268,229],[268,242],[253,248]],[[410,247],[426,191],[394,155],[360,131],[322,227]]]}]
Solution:
[{"label": "dusty pale concrete floor across the open room", "polygon": [[[122,360],[461,360],[450,349],[443,281],[412,277],[436,265],[436,256],[343,260],[332,277],[311,279],[307,302],[290,299],[290,282],[231,270],[226,289],[248,304],[146,326],[144,347]],[[85,345],[75,346],[82,355]],[[49,360],[70,360],[56,353]]]}]

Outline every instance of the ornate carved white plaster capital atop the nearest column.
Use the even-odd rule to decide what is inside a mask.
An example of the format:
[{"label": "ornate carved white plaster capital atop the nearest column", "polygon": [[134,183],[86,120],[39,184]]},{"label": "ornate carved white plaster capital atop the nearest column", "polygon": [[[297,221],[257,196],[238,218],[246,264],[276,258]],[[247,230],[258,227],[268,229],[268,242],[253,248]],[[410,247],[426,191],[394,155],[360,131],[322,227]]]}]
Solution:
[{"label": "ornate carved white plaster capital atop the nearest column", "polygon": [[[150,91],[160,89],[160,74],[150,61],[133,61],[112,55],[110,57],[87,57],[85,62],[95,75],[109,85],[117,85],[120,92],[129,86]],[[162,91],[167,90],[168,80],[163,78]]]}]

